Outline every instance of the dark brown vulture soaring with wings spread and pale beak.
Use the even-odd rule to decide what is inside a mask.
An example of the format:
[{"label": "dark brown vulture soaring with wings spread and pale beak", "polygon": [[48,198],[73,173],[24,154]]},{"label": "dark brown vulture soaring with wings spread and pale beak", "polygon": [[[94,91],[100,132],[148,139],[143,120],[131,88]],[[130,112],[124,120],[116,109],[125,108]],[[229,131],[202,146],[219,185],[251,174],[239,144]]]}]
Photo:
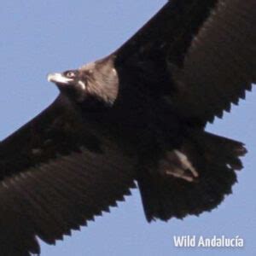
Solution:
[{"label": "dark brown vulture soaring with wings spread and pale beak", "polygon": [[255,0],[170,0],[125,44],[50,73],[55,101],[0,143],[0,252],[39,254],[138,187],[145,217],[210,211],[243,143],[205,131],[256,82]]}]

